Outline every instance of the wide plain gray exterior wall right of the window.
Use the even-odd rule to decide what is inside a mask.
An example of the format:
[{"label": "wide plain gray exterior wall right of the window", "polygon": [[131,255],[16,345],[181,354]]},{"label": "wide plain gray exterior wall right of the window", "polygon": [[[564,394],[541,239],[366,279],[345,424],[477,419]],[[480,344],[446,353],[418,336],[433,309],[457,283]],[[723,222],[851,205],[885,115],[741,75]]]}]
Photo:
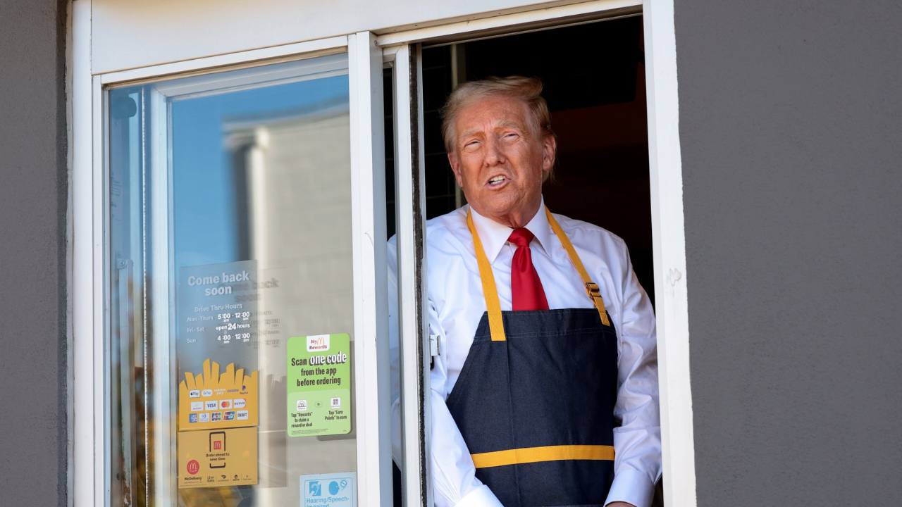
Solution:
[{"label": "wide plain gray exterior wall right of the window", "polygon": [[900,27],[676,2],[700,506],[902,502]]}]

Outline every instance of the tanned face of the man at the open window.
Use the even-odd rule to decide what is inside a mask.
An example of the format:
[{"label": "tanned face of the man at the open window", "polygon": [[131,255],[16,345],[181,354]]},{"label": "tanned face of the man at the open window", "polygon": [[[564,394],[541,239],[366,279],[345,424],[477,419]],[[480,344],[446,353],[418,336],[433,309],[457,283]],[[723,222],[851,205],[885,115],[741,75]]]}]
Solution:
[{"label": "tanned face of the man at the open window", "polygon": [[520,100],[483,98],[454,119],[448,161],[470,206],[483,217],[525,226],[538,211],[542,180],[555,161],[554,137],[539,137]]}]

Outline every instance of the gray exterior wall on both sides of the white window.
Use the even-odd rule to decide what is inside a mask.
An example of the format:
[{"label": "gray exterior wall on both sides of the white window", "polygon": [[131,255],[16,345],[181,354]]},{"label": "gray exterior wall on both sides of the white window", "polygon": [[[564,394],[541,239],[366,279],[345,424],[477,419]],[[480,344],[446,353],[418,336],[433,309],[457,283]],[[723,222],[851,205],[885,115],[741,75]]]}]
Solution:
[{"label": "gray exterior wall on both sides of the white window", "polygon": [[[65,21],[0,2],[3,505],[67,502]],[[676,2],[700,506],[902,498],[899,26]]]}]

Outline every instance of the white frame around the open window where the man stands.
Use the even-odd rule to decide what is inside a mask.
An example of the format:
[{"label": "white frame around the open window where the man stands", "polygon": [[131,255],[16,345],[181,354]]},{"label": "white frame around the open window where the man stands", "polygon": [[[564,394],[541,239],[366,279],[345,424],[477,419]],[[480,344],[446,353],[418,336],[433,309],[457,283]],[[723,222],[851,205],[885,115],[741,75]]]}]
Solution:
[{"label": "white frame around the open window where the man stands", "polygon": [[[413,214],[423,211],[424,206],[414,207],[417,196],[405,195],[410,189],[410,179],[414,171],[423,174],[423,156],[419,153],[419,168],[410,168],[410,139],[403,139],[402,133],[410,131],[410,89],[402,93],[400,74],[410,72],[410,65],[404,59],[409,51],[415,51],[411,44],[428,41],[465,40],[487,36],[497,36],[510,32],[529,31],[547,23],[566,23],[581,16],[612,12],[641,6],[644,17],[646,89],[648,94],[649,122],[649,177],[651,186],[652,244],[655,268],[655,294],[657,294],[656,314],[658,319],[658,370],[660,375],[661,437],[663,469],[666,477],[665,499],[668,507],[695,507],[695,446],[693,443],[692,392],[689,383],[689,330],[686,293],[686,236],[683,226],[683,174],[679,145],[678,102],[676,87],[676,38],[673,21],[672,0],[596,0],[575,5],[550,7],[518,14],[500,15],[489,18],[449,23],[445,25],[419,28],[406,32],[390,32],[380,35],[377,43],[386,47],[386,53],[396,55],[395,69],[395,113],[398,160],[398,230],[413,224]],[[400,46],[398,46],[400,44]],[[391,57],[387,57],[387,60]],[[416,61],[419,62],[419,59]],[[421,77],[417,83],[420,84]],[[419,90],[418,97],[422,97]],[[405,102],[406,101],[406,102]],[[422,117],[422,105],[419,105]],[[419,122],[419,137],[422,139],[422,123]],[[406,150],[406,151],[405,151]],[[420,146],[421,150],[421,146]],[[405,178],[406,177],[406,178]],[[403,186],[402,186],[403,185]],[[420,199],[423,195],[419,196]],[[425,211],[423,211],[425,212]],[[416,257],[414,244],[404,244],[399,234],[399,259],[407,254],[408,262],[399,261],[400,300],[414,308],[419,302],[418,287],[411,275],[415,263],[421,263],[425,272],[425,260]],[[404,283],[403,273],[408,272],[409,282]],[[425,312],[425,309],[420,309]],[[401,336],[416,336],[417,322],[413,317],[405,317],[401,312]],[[426,330],[420,329],[419,336]],[[415,344],[410,344],[415,345]],[[406,360],[402,368],[403,400],[415,399],[416,383],[403,383],[403,377],[417,378],[419,372],[413,370],[418,355],[413,347],[402,349]],[[421,357],[422,355],[420,355]],[[427,375],[428,379],[428,375]],[[428,380],[427,380],[428,382]],[[428,475],[428,396],[425,397],[426,423],[415,424],[419,407],[405,407],[402,414],[403,442],[424,442],[425,448],[408,446],[404,448],[405,471],[403,475],[406,505],[416,504],[415,499],[428,499],[431,491],[423,492],[417,480],[422,474]],[[419,428],[419,429],[418,429]],[[418,434],[422,432],[423,434]]]}]

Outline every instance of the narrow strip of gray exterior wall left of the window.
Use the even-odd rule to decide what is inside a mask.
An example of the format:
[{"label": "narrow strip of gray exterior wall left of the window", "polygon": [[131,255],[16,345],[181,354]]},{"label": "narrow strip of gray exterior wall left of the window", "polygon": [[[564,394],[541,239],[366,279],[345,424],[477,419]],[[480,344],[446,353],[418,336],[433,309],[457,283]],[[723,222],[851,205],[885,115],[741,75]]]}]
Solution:
[{"label": "narrow strip of gray exterior wall left of the window", "polygon": [[0,2],[0,505],[66,505],[65,3]]}]

